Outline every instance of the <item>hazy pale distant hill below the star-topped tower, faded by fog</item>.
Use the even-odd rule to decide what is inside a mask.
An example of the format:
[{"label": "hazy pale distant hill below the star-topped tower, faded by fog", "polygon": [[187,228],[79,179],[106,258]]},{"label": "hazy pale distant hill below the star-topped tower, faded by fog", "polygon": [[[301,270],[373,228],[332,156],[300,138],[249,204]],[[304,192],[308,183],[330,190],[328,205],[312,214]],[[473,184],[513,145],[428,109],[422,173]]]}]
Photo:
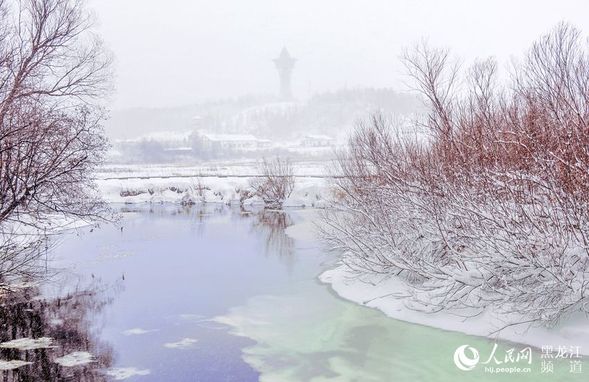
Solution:
[{"label": "hazy pale distant hill below the star-topped tower, faded by fog", "polygon": [[105,131],[113,140],[198,129],[250,133],[272,140],[313,133],[338,137],[375,111],[410,115],[419,113],[421,105],[416,96],[388,88],[343,89],[317,94],[303,102],[249,96],[175,108],[114,111]]}]

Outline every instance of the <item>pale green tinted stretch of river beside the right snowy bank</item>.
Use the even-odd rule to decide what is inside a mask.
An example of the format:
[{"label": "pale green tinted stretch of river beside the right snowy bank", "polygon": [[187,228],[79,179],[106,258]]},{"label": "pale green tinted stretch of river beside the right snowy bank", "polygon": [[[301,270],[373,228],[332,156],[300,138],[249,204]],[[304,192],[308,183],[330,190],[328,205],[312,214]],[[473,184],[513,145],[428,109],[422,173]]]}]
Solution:
[{"label": "pale green tinted stretch of river beside the right snowy bank", "polygon": [[[487,367],[519,367],[523,372],[491,373],[478,364],[459,370],[454,351],[470,345],[486,362],[494,342],[385,317],[374,309],[343,301],[326,286],[302,283],[296,294],[252,298],[219,318],[235,334],[256,341],[244,350],[244,359],[261,373],[261,381],[586,381],[570,372],[571,360],[552,360],[553,373],[543,373],[541,354],[532,362],[505,362],[520,344],[501,343],[498,361]],[[557,345],[557,344],[554,344]],[[467,353],[470,354],[470,353]],[[514,358],[516,359],[516,358]],[[581,360],[581,366],[582,360]],[[526,372],[524,368],[529,368]]]}]

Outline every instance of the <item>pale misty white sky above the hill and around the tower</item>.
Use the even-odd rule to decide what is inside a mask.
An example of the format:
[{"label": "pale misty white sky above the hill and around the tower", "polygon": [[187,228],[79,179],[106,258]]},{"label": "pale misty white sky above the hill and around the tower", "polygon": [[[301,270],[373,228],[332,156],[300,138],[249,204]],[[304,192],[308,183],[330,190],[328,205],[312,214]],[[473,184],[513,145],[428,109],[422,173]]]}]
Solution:
[{"label": "pale misty white sky above the hill and around the tower", "polygon": [[115,109],[276,93],[272,58],[298,59],[295,96],[404,89],[398,57],[422,37],[467,62],[507,63],[559,21],[589,34],[587,0],[89,0],[115,56]]}]

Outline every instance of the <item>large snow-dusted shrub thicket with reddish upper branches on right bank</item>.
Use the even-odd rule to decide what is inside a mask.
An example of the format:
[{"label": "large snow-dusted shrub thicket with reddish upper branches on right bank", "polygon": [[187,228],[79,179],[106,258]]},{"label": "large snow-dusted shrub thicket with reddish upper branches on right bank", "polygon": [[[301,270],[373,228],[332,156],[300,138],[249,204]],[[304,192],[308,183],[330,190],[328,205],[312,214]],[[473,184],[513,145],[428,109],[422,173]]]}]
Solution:
[{"label": "large snow-dusted shrub thicket with reddish upper branches on right bank", "polygon": [[426,311],[492,308],[506,325],[589,311],[589,50],[559,25],[512,85],[492,60],[459,88],[446,51],[406,54],[430,138],[374,117],[340,155],[325,237],[359,272],[396,275]]}]

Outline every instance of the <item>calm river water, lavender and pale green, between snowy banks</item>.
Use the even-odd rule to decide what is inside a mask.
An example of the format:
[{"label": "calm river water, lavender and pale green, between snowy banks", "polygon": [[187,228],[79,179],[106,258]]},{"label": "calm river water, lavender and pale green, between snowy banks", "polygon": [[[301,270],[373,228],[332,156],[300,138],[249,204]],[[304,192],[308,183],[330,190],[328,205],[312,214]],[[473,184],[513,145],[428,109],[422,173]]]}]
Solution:
[{"label": "calm river water, lavender and pale green, between snowy banks", "polygon": [[[338,298],[317,280],[336,254],[285,234],[313,211],[161,205],[121,213],[122,229],[62,235],[48,254],[51,277],[0,309],[2,341],[53,341],[0,348],[4,360],[30,362],[3,371],[4,380],[583,381],[589,372],[571,373],[577,359],[536,350],[531,362],[516,362],[526,354],[518,344],[497,344],[491,358],[493,341]],[[489,358],[488,369],[459,370],[453,355],[462,345]],[[56,363],[75,352],[80,362]]]}]

